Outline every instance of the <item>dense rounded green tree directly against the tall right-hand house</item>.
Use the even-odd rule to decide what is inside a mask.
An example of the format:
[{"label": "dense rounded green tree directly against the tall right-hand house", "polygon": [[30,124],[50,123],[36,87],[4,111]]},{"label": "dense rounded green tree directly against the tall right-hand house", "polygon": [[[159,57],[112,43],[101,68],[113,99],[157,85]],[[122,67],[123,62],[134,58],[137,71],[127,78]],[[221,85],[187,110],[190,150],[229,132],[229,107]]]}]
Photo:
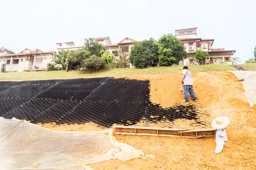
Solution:
[{"label": "dense rounded green tree directly against the tall right-hand house", "polygon": [[172,34],[163,35],[157,44],[159,45],[159,66],[178,64],[180,60],[188,57],[186,48]]}]

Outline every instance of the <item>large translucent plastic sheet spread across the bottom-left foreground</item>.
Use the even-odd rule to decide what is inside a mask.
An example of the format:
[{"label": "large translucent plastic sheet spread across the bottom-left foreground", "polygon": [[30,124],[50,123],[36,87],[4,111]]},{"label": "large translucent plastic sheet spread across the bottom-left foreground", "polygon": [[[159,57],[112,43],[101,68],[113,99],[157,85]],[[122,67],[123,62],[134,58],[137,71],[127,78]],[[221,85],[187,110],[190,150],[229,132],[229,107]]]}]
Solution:
[{"label": "large translucent plastic sheet spread across the bottom-left foreground", "polygon": [[[0,117],[0,170],[73,169],[91,170],[87,164],[119,159],[154,158],[119,143],[113,130],[94,132],[58,131]],[[33,168],[38,162],[39,166]]]}]

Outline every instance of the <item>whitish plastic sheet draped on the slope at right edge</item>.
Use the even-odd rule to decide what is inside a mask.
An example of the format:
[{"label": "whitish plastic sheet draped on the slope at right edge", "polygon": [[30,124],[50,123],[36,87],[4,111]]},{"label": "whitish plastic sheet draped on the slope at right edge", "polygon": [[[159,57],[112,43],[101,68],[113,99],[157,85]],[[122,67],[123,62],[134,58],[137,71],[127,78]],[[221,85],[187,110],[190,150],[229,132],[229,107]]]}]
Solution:
[{"label": "whitish plastic sheet draped on the slope at right edge", "polygon": [[236,77],[243,77],[241,83],[244,86],[245,96],[251,107],[256,104],[256,72],[255,71],[231,71]]}]

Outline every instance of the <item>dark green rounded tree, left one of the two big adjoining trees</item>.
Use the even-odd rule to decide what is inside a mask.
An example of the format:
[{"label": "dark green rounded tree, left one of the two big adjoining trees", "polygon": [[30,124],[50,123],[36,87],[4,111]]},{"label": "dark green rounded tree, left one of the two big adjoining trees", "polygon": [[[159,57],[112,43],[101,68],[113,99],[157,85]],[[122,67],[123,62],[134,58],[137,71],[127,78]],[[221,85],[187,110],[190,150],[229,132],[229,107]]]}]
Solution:
[{"label": "dark green rounded tree, left one of the two big adjoining trees", "polygon": [[153,38],[135,43],[131,48],[129,60],[135,68],[154,67],[158,65],[158,45]]}]

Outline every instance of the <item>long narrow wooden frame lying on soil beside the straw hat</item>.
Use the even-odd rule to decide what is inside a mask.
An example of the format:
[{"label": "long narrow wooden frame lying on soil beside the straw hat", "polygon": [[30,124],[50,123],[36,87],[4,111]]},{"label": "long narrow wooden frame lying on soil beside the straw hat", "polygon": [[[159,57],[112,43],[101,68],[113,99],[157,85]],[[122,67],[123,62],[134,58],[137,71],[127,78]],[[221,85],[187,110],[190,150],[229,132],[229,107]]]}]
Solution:
[{"label": "long narrow wooden frame lying on soil beside the straw hat", "polygon": [[133,126],[114,126],[116,134],[125,135],[148,135],[148,136],[170,136],[182,138],[206,138],[215,137],[215,129],[172,129],[161,127],[133,127]]}]

